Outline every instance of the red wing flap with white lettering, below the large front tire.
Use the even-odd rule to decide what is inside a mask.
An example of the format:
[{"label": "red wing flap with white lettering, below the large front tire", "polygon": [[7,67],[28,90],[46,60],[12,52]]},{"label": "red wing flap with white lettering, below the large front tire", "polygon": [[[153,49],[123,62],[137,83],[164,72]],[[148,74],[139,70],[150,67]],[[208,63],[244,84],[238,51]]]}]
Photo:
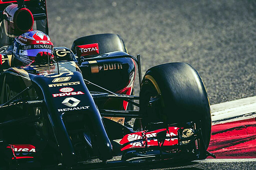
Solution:
[{"label": "red wing flap with white lettering, below the large front tire", "polygon": [[[144,148],[150,146],[173,146],[178,144],[178,129],[177,127],[169,127],[169,132],[165,129],[159,129],[152,132],[141,131],[125,135],[120,144],[124,147],[121,151],[130,148]],[[159,143],[157,133],[166,131],[166,139],[163,143]],[[134,141],[134,142],[132,142]],[[126,145],[127,144],[127,145]]]}]

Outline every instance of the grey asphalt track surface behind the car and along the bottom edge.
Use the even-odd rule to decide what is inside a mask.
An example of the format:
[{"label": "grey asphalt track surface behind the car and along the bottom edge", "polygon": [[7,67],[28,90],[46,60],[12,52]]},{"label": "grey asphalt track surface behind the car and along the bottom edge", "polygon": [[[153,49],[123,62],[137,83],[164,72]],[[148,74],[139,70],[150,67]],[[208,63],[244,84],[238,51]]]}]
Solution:
[{"label": "grey asphalt track surface behind the car and along the bottom edge", "polygon": [[[55,46],[116,33],[131,55],[141,54],[143,74],[157,64],[187,62],[204,80],[211,104],[256,95],[255,0],[47,0],[47,11]],[[208,160],[137,169],[256,169],[255,159]]]}]

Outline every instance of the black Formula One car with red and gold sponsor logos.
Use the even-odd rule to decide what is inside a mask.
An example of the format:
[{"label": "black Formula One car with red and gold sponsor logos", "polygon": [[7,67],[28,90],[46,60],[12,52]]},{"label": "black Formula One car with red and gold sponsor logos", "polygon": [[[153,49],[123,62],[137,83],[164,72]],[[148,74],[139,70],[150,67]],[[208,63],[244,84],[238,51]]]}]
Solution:
[{"label": "black Formula One car with red and gold sponsor logos", "polygon": [[[166,63],[142,77],[139,55],[129,55],[115,34],[78,38],[71,49],[53,48],[45,0],[12,2],[0,0],[0,167],[213,156],[206,151],[210,104],[193,67]],[[37,59],[43,54],[47,59]],[[15,61],[22,56],[29,56],[27,64]],[[133,92],[136,70],[139,96]],[[127,124],[130,118],[133,126]],[[111,160],[115,156],[121,159]]]}]

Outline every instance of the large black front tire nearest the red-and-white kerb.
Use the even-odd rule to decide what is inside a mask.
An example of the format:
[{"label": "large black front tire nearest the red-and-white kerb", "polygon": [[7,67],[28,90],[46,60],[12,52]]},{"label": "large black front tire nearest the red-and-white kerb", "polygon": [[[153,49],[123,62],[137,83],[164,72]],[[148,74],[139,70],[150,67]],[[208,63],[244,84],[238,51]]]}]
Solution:
[{"label": "large black front tire nearest the red-and-white kerb", "polygon": [[208,95],[198,72],[189,64],[173,62],[148,69],[140,89],[140,112],[144,115],[142,126],[146,129],[150,123],[200,120],[202,137],[208,148],[211,137]]}]

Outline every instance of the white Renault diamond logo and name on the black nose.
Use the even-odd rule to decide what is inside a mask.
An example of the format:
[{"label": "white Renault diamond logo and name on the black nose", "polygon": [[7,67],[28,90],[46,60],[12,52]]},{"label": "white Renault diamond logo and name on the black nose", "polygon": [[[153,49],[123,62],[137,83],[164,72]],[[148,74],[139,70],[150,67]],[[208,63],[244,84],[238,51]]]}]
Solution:
[{"label": "white Renault diamond logo and name on the black nose", "polygon": [[63,108],[63,109],[58,109],[58,112],[66,112],[66,111],[73,111],[73,110],[85,110],[89,109],[89,106],[81,106],[81,107],[76,107],[81,101],[74,98],[74,97],[67,97],[64,99],[62,104],[65,106],[68,106],[70,108]]}]

